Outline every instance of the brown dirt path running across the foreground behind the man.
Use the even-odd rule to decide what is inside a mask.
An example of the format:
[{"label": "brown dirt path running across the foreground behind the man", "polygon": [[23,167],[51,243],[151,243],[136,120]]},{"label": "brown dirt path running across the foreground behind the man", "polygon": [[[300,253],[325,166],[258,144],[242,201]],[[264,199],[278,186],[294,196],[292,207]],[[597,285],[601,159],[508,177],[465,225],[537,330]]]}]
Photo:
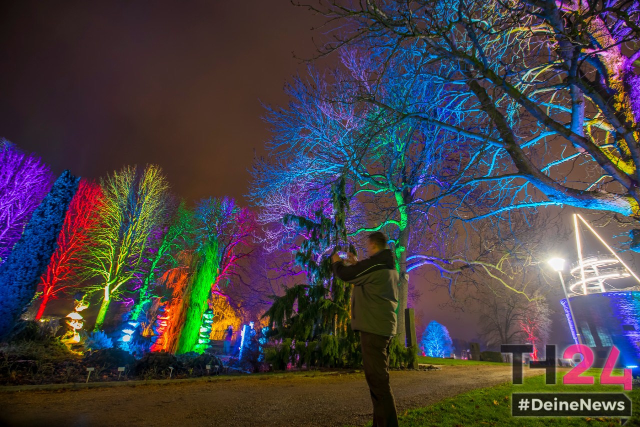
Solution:
[{"label": "brown dirt path running across the foreground behind the man", "polygon": [[[402,414],[467,390],[511,381],[511,367],[444,366],[440,371],[390,375]],[[0,392],[0,423],[5,426],[343,426],[367,423],[371,415],[362,372]]]}]

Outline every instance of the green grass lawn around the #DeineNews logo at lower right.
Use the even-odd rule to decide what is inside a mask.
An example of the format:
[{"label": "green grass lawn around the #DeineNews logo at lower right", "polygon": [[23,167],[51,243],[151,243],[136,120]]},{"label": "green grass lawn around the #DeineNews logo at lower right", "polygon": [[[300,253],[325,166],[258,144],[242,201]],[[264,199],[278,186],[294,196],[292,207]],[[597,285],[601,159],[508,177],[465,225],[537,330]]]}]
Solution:
[{"label": "green grass lawn around the #DeineNews logo at lower right", "polygon": [[[463,361],[465,362],[465,361]],[[585,417],[512,417],[513,392],[623,392],[621,385],[600,385],[600,369],[589,369],[583,375],[595,376],[595,385],[563,385],[565,372],[557,373],[556,385],[545,385],[545,376],[525,378],[524,384],[511,383],[472,390],[445,399],[426,408],[408,410],[399,415],[401,426],[460,427],[460,426],[616,426],[620,419]],[[621,374],[614,371],[614,374]],[[633,415],[625,426],[640,426],[640,390],[627,392],[632,401]],[[367,424],[371,425],[371,423]]]}]

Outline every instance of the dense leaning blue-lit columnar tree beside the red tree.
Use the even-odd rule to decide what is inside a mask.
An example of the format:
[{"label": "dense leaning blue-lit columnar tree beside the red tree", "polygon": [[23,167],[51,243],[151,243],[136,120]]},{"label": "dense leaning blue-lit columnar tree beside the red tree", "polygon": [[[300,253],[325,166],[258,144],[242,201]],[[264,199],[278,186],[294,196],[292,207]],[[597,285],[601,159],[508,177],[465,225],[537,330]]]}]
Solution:
[{"label": "dense leaning blue-lit columnar tree beside the red tree", "polygon": [[78,183],[79,178],[69,171],[61,174],[31,215],[8,260],[0,265],[0,339],[10,333],[22,308],[35,296]]}]

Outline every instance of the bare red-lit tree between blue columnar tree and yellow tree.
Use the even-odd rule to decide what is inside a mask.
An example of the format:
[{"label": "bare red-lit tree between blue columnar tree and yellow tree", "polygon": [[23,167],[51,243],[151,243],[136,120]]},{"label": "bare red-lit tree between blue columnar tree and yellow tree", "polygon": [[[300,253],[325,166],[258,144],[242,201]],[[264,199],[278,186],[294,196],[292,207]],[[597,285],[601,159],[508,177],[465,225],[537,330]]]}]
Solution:
[{"label": "bare red-lit tree between blue columnar tree and yellow tree", "polygon": [[51,256],[47,270],[40,277],[38,287],[42,295],[36,320],[42,317],[50,299],[68,292],[83,277],[83,259],[88,255],[92,235],[100,224],[101,198],[98,185],[80,181],[58,234],[58,247]]}]

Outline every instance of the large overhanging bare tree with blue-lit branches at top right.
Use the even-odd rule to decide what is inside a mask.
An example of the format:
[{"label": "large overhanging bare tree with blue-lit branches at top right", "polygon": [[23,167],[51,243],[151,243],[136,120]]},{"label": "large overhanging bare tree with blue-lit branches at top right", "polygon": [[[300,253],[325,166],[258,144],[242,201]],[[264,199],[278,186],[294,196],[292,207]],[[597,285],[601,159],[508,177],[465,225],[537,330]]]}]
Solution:
[{"label": "large overhanging bare tree with blue-lit branches at top right", "polygon": [[483,185],[493,203],[461,205],[458,218],[570,205],[640,219],[636,1],[321,3],[342,21],[323,51],[371,57],[349,76],[354,102],[465,140],[474,167],[442,191]]}]

